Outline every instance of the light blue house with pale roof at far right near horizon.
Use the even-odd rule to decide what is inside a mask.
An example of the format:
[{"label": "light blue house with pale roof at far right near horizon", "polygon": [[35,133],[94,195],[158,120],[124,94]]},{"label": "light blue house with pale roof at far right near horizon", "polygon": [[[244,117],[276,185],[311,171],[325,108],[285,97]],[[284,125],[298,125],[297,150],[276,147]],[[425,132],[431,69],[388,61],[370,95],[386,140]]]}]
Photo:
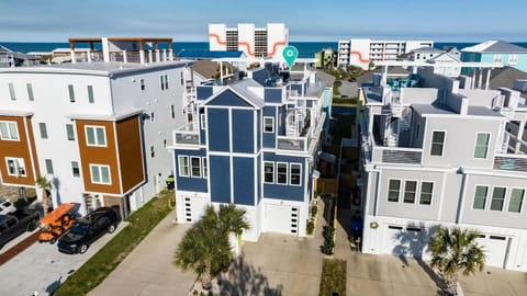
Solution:
[{"label": "light blue house with pale roof at far right near horizon", "polygon": [[462,48],[461,61],[500,62],[527,72],[527,48],[503,41],[487,41]]}]

